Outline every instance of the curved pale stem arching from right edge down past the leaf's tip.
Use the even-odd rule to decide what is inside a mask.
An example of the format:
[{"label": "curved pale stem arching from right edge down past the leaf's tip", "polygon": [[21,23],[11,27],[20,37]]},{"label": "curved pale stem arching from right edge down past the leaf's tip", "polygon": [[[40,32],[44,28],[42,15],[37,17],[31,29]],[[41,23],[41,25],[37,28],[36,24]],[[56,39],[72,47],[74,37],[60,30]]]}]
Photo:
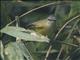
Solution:
[{"label": "curved pale stem arching from right edge down past the leaf's tip", "polygon": [[[58,31],[58,33],[55,35],[55,37],[54,37],[53,40],[54,40],[54,41],[56,40],[56,38],[58,37],[58,35],[60,34],[60,32],[65,28],[65,26],[66,26],[67,24],[69,24],[70,22],[72,22],[73,20],[75,20],[75,19],[78,18],[78,17],[80,17],[80,15],[77,15],[77,16],[75,16],[74,18],[72,18],[71,20],[67,21],[67,22],[61,27],[61,29]],[[52,45],[49,46],[49,49],[48,49],[48,51],[47,51],[47,53],[46,53],[46,56],[47,56],[46,58],[48,58],[51,49],[52,49]]]}]

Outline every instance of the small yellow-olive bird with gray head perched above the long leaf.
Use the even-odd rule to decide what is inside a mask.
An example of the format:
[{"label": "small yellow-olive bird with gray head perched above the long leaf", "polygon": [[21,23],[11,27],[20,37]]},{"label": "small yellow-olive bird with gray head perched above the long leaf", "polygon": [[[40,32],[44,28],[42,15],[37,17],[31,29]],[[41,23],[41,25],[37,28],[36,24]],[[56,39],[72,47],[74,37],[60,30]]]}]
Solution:
[{"label": "small yellow-olive bird with gray head perched above the long leaf", "polygon": [[44,36],[48,34],[51,29],[52,24],[56,21],[56,17],[49,15],[47,18],[38,20],[28,25],[28,29],[32,29],[37,33],[40,33]]}]

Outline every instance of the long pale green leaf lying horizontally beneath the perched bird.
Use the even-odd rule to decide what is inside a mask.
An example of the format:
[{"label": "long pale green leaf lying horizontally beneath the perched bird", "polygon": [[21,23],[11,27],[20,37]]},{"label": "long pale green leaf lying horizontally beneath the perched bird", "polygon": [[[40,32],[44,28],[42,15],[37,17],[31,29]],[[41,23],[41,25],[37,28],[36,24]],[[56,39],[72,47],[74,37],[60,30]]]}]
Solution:
[{"label": "long pale green leaf lying horizontally beneath the perched bird", "polygon": [[32,30],[25,30],[21,27],[7,26],[1,30],[2,33],[8,34],[13,37],[18,37],[24,41],[37,41],[37,42],[49,42],[49,39],[39,33]]}]

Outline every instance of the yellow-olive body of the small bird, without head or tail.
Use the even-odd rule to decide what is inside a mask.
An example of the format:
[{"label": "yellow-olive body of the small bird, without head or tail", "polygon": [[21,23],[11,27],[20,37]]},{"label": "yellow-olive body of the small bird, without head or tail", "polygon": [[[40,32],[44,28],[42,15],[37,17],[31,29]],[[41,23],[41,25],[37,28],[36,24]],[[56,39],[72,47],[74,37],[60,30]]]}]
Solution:
[{"label": "yellow-olive body of the small bird, without head or tail", "polygon": [[35,25],[35,31],[43,35],[47,35],[49,27],[51,26],[47,19],[34,22],[33,25]]}]

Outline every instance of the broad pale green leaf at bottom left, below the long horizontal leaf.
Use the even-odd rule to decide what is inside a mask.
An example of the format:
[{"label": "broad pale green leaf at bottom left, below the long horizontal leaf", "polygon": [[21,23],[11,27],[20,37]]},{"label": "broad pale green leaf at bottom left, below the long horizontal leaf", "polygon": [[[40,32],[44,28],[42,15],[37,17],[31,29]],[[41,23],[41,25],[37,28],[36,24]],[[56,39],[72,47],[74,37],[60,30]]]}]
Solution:
[{"label": "broad pale green leaf at bottom left, below the long horizontal leaf", "polygon": [[28,49],[25,47],[23,43],[9,43],[6,45],[5,48],[5,55],[8,60],[33,60],[32,56],[30,55]]}]

